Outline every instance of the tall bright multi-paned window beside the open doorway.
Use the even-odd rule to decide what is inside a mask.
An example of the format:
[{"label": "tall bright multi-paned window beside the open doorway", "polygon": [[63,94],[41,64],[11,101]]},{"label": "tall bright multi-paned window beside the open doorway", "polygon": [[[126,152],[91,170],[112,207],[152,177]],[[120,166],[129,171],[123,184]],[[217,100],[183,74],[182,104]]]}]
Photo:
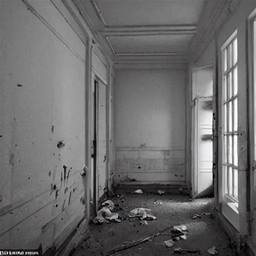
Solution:
[{"label": "tall bright multi-paned window beside the open doorway", "polygon": [[238,48],[237,34],[223,51],[223,171],[225,196],[238,201]]}]

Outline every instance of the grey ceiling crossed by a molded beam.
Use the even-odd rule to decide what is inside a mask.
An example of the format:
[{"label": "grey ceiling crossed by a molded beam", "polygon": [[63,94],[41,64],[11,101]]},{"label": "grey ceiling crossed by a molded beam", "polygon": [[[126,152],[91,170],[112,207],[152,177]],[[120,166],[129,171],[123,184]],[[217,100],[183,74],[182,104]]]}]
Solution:
[{"label": "grey ceiling crossed by a molded beam", "polygon": [[185,61],[204,4],[204,0],[73,2],[84,17],[90,18],[116,61],[132,56]]}]

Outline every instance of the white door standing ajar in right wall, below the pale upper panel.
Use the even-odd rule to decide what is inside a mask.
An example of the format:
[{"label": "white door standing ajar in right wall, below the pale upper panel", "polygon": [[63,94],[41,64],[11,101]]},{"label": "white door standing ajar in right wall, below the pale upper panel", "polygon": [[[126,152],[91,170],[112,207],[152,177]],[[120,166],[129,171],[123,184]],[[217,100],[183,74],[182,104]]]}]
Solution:
[{"label": "white door standing ajar in right wall, below the pale upper panel", "polygon": [[197,97],[192,107],[192,196],[213,194],[212,97]]}]

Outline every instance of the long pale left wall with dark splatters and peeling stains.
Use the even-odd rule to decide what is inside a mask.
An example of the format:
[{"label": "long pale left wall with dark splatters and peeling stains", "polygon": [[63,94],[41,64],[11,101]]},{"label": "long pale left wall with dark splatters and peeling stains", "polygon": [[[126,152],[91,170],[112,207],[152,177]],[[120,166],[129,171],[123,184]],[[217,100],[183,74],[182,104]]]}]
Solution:
[{"label": "long pale left wall with dark splatters and peeling stains", "polygon": [[30,3],[68,46],[22,1],[1,1],[0,244],[45,250],[85,211],[85,45],[50,1]]}]

